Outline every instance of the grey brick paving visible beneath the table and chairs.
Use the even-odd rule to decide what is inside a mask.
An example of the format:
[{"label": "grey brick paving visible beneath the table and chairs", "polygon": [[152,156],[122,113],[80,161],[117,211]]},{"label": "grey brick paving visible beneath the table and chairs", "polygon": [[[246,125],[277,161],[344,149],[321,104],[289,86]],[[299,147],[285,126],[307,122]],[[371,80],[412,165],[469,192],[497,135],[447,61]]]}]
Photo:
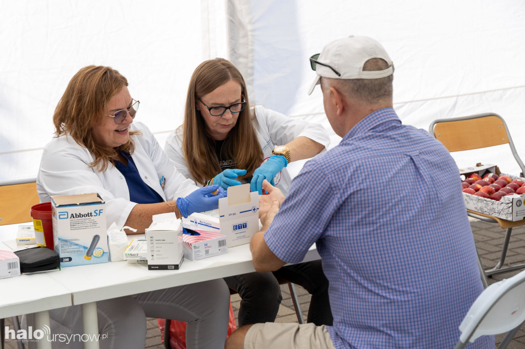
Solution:
[{"label": "grey brick paving visible beneath the table and chairs", "polygon": [[[481,257],[481,263],[488,268],[492,268],[497,264],[500,257],[501,247],[503,244],[503,238],[505,236],[505,230],[502,230],[498,225],[481,222],[477,220],[471,221],[472,232],[476,240],[476,246],[478,253]],[[507,253],[506,266],[525,263],[525,227],[514,228],[510,240],[509,251]],[[507,272],[505,274],[498,274],[489,278],[489,283],[508,278],[512,275],[517,274],[521,270]],[[451,277],[453,277],[451,275]],[[308,314],[308,304],[310,302],[310,296],[301,287],[296,287],[299,302],[301,303],[301,309],[306,319]],[[295,311],[293,310],[293,304],[290,298],[287,285],[281,285],[283,300],[279,313],[277,315],[277,322],[297,322]],[[240,299],[238,295],[232,296],[232,307],[234,313],[237,316],[239,309]],[[6,324],[12,328],[12,322],[10,319],[6,319]],[[459,324],[458,324],[459,325]],[[504,335],[496,336],[496,344],[503,339]],[[6,343],[6,349],[16,349],[16,343]],[[164,346],[161,343],[161,335],[156,319],[148,319],[148,337],[146,339],[146,348],[161,349]],[[509,349],[522,349],[525,348],[525,325],[522,325],[521,330],[518,332],[514,340],[509,345]]]}]

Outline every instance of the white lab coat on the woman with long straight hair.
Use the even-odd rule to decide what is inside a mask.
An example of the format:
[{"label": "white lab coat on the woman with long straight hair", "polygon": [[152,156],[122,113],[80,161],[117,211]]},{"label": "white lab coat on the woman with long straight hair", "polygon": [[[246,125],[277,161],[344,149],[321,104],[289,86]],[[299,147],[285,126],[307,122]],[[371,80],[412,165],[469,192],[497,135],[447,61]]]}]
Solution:
[{"label": "white lab coat on the woman with long straight hair", "polygon": [[[251,115],[255,113],[252,121],[257,133],[257,140],[264,154],[264,161],[272,155],[271,151],[274,150],[276,146],[287,144],[299,136],[308,137],[324,145],[323,151],[326,151],[330,144],[330,138],[324,127],[320,124],[308,123],[300,118],[291,118],[265,108],[262,105],[251,107],[250,112]],[[177,170],[181,172],[184,177],[195,180],[191,176],[186,161],[184,160],[182,140],[182,128],[175,129],[167,137],[164,150]],[[288,194],[291,178],[286,168],[283,168],[280,174],[277,174],[274,182],[283,194]],[[197,183],[197,185],[203,186],[204,183]]]}]

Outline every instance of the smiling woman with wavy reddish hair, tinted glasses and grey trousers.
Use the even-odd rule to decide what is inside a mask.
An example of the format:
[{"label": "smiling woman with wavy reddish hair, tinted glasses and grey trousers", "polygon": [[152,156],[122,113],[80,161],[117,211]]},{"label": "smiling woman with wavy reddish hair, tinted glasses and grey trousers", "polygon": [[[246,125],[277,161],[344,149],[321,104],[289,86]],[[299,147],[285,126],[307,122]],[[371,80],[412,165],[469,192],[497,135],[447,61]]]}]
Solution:
[{"label": "smiling woman with wavy reddish hair, tinted glasses and grey trousers", "polygon": [[[108,226],[144,232],[152,215],[217,207],[218,187],[199,189],[176,171],[150,130],[133,123],[140,102],[128,81],[109,67],[88,66],[71,79],[57,105],[56,138],[45,147],[37,177],[42,202],[53,195],[97,192],[106,201]],[[131,232],[130,232],[131,233]],[[188,323],[188,348],[222,348],[226,339],[229,291],[223,280],[139,293],[97,302],[101,348],[144,347],[146,317]],[[50,312],[53,333],[81,334],[80,311]],[[60,344],[60,343],[55,343]],[[82,342],[69,343],[78,347]],[[55,346],[54,346],[55,347]]]}]

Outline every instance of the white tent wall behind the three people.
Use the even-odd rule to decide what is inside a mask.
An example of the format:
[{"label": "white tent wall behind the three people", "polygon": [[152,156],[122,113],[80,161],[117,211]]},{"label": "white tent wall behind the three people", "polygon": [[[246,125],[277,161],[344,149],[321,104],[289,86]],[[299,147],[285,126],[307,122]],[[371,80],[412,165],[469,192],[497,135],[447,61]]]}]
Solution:
[{"label": "white tent wall behind the three people", "polygon": [[[494,112],[525,157],[525,3],[324,0],[0,0],[0,181],[36,177],[51,117],[71,77],[111,66],[141,101],[138,119],[161,145],[182,122],[187,84],[203,60],[224,57],[243,72],[250,102],[325,120],[308,58],[325,43],[366,35],[394,61],[394,107],[403,123]],[[497,152],[458,158],[497,163]]]}]

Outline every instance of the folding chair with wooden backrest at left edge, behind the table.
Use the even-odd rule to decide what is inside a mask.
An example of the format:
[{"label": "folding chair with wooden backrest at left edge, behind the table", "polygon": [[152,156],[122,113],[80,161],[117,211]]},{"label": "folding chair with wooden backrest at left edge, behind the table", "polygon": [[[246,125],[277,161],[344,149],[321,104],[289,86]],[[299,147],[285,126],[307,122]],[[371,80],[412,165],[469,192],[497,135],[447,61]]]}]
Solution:
[{"label": "folding chair with wooden backrest at left edge, behind the table", "polygon": [[[31,206],[39,203],[36,178],[0,182],[0,225],[31,222]],[[0,346],[4,347],[4,319],[0,319]],[[15,332],[20,330],[18,317],[13,317]],[[24,348],[18,341],[18,348]]]}]

